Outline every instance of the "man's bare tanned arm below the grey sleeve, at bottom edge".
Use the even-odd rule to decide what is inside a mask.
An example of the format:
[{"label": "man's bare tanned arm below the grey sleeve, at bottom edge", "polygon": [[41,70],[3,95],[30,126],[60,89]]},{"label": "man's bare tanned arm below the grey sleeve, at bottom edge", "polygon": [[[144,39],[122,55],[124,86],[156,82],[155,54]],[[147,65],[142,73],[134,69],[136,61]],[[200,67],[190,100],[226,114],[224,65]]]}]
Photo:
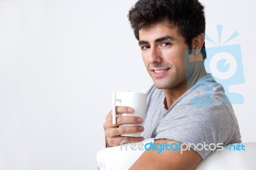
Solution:
[{"label": "man's bare tanned arm below the grey sleeve, at bottom edge", "polygon": [[[158,139],[154,144],[165,142],[178,144],[177,141],[168,139]],[[193,149],[183,151],[182,154],[180,151],[164,150],[157,153],[157,150],[150,150],[144,151],[130,169],[195,169],[201,160],[202,157]]]}]

